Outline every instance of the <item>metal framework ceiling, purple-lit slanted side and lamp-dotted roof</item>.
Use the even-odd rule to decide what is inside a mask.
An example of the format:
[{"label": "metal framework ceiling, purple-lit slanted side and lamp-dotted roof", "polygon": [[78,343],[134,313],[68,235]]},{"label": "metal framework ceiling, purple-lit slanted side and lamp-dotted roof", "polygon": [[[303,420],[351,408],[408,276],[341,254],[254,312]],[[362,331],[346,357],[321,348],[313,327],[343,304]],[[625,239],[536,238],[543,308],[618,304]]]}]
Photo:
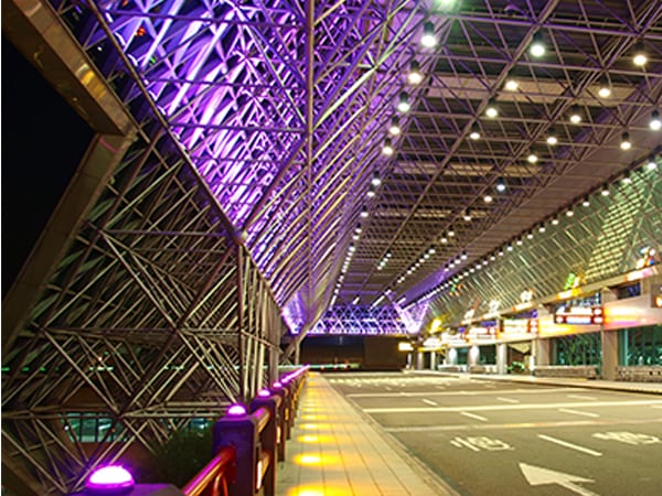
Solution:
[{"label": "metal framework ceiling, purple-lit slanted side and lamp-dotted roof", "polygon": [[[490,252],[660,145],[648,129],[662,94],[656,0],[142,1],[93,10],[295,330],[331,303],[359,296],[370,305],[387,289],[392,299],[415,296],[458,252]],[[438,40],[431,48],[420,44],[426,22]],[[107,32],[86,33],[86,48],[108,50]],[[528,53],[534,35],[547,46],[540,58]],[[631,60],[640,43],[643,67]],[[406,78],[413,61],[417,85]],[[602,82],[608,98],[598,95]],[[383,157],[401,91],[412,109],[399,115],[395,153]],[[484,117],[490,101],[493,119]],[[568,121],[574,107],[580,123]],[[552,128],[556,145],[545,142]],[[633,142],[627,152],[623,132]],[[374,172],[383,182],[369,198]],[[453,242],[441,245],[450,228]],[[356,250],[343,273],[350,242]]]}]

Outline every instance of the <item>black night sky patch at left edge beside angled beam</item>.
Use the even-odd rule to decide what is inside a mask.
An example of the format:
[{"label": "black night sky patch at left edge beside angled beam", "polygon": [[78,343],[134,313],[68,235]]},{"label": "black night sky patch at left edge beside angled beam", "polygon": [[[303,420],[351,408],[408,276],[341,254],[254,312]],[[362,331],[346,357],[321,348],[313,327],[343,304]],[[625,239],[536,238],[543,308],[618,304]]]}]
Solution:
[{"label": "black night sky patch at left edge beside angled beam", "polygon": [[93,131],[4,36],[1,109],[4,298]]}]

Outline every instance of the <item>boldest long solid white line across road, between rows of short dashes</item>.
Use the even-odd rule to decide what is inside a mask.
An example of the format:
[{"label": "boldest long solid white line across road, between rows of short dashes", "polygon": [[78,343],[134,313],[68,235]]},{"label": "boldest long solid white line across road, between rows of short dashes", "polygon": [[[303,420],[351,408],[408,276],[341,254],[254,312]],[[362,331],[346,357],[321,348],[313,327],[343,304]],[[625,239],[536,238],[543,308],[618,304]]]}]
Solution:
[{"label": "boldest long solid white line across road, between rows of short dashes", "polygon": [[543,410],[548,408],[581,408],[581,407],[641,407],[662,406],[662,400],[634,400],[634,401],[591,401],[591,402],[563,402],[563,403],[520,403],[520,405],[481,405],[478,407],[389,407],[389,408],[364,408],[365,413],[430,413],[491,410]]}]

